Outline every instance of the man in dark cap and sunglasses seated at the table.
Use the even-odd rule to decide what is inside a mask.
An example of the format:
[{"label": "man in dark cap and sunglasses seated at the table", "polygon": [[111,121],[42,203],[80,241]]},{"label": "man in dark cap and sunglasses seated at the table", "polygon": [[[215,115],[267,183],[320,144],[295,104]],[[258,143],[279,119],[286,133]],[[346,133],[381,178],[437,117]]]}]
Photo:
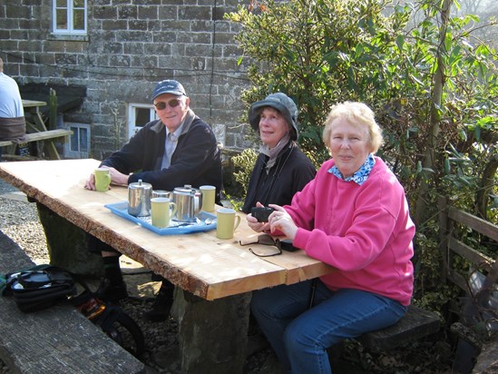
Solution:
[{"label": "man in dark cap and sunglasses seated at the table", "polygon": [[[177,81],[158,83],[151,97],[159,120],[147,123],[130,142],[105,159],[101,167],[108,167],[113,184],[131,182],[151,183],[154,190],[172,191],[190,184],[216,187],[217,202],[222,188],[221,157],[210,125],[190,109],[190,99]],[[84,186],[95,190],[93,174]],[[119,265],[120,253],[95,239],[91,251],[101,252],[105,277],[96,291],[103,300],[122,300],[127,296]],[[173,298],[173,285],[162,280],[161,290],[149,320],[168,317]]]}]

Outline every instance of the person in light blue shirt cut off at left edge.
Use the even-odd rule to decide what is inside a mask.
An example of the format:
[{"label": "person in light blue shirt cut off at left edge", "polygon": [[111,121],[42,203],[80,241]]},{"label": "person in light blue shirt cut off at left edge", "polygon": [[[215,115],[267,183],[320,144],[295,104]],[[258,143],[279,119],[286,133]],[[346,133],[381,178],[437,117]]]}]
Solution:
[{"label": "person in light blue shirt cut off at left edge", "polygon": [[[23,143],[26,124],[19,86],[4,74],[4,60],[0,58],[0,140]],[[0,148],[0,157],[2,148]]]}]

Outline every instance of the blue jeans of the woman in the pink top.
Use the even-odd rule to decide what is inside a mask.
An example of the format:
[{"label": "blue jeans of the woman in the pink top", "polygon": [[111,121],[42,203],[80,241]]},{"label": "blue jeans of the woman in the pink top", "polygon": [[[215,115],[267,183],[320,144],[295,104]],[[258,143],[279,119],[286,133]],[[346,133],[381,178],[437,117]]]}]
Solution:
[{"label": "blue jeans of the woman in the pink top", "polygon": [[364,290],[328,290],[317,280],[252,293],[250,309],[288,373],[331,373],[327,348],[384,329],[405,314],[398,301]]}]

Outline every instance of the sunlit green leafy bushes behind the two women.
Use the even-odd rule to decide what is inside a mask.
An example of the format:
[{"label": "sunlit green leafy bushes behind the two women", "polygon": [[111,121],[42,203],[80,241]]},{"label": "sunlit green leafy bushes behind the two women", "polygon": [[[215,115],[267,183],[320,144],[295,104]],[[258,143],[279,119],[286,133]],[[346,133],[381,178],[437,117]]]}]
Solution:
[{"label": "sunlit green leafy bushes behind the two women", "polygon": [[[483,169],[498,148],[497,54],[473,37],[476,16],[442,23],[443,3],[268,0],[226,15],[241,25],[239,61],[249,64],[252,87],[242,100],[290,95],[300,111],[300,146],[317,164],[329,157],[321,133],[331,105],[362,101],[374,109],[386,140],[379,156],[404,185],[412,214],[426,211],[416,222],[425,248],[421,299],[439,285],[437,196],[475,212]],[[435,81],[438,68],[443,85]],[[423,183],[428,192],[419,195]]]}]

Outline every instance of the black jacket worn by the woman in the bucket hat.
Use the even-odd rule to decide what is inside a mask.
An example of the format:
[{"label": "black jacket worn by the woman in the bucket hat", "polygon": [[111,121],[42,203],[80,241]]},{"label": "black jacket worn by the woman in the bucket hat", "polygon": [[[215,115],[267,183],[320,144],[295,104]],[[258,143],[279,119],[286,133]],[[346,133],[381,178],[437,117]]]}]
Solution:
[{"label": "black jacket worn by the woman in the bucket hat", "polygon": [[256,202],[263,205],[287,205],[292,197],[317,173],[315,166],[292,141],[278,154],[273,167],[266,172],[269,156],[259,153],[249,178],[248,194],[242,212],[249,213]]}]

